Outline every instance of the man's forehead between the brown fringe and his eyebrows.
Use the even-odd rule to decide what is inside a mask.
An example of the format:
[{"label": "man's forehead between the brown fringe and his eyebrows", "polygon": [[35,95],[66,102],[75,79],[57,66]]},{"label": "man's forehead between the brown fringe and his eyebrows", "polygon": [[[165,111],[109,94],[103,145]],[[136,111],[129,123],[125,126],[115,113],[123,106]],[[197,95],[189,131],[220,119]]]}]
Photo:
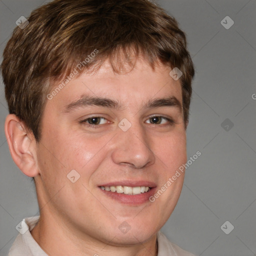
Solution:
[{"label": "man's forehead between the brown fringe and his eyebrows", "polygon": [[[121,107],[141,107],[148,100],[170,96],[176,97],[182,105],[180,79],[174,80],[169,75],[170,70],[160,62],[156,62],[152,69],[146,60],[137,58],[133,68],[127,66],[116,73],[105,61],[96,71],[74,75],[46,104],[63,109],[86,94],[114,99]],[[52,86],[51,92],[63,81]]]}]

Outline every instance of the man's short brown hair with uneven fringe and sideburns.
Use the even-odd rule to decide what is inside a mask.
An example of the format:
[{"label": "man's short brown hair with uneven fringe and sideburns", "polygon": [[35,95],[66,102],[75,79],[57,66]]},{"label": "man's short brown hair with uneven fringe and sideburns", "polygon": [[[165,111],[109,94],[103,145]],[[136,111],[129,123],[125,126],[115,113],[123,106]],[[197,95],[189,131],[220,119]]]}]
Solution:
[{"label": "man's short brown hair with uneven fringe and sideburns", "polygon": [[91,54],[84,69],[108,59],[114,72],[132,66],[142,54],[152,68],[156,60],[182,71],[183,118],[188,119],[193,64],[183,31],[175,19],[148,0],[53,0],[31,12],[16,27],[1,64],[5,97],[16,114],[40,138],[46,94],[54,82]]}]

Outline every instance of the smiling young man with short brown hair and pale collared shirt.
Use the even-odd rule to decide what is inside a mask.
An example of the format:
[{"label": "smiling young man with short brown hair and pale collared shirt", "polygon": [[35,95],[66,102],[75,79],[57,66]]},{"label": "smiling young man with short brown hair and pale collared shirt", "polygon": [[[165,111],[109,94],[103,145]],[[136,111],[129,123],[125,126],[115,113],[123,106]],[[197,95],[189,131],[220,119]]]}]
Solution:
[{"label": "smiling young man with short brown hair and pale collared shirt", "polygon": [[54,0],[25,24],[3,53],[5,134],[40,217],[9,255],[192,255],[159,232],[194,74],[176,21],[147,0]]}]

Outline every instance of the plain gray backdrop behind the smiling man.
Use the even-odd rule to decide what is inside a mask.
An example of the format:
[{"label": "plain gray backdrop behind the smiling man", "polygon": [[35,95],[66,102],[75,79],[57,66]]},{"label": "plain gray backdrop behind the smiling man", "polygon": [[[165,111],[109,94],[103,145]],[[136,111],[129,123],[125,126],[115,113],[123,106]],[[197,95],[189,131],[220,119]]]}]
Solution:
[{"label": "plain gray backdrop behind the smiling man", "polygon": [[[180,199],[162,231],[197,255],[255,255],[256,1],[158,2],[187,34],[196,68],[187,153],[202,153],[187,168]],[[15,21],[42,3],[0,0],[1,53]],[[234,21],[229,29],[220,23],[227,15]],[[38,211],[34,184],[21,174],[8,151],[3,131],[7,113],[1,81],[0,255],[7,253],[17,235],[17,223]],[[226,220],[234,226],[229,234],[220,228]]]}]

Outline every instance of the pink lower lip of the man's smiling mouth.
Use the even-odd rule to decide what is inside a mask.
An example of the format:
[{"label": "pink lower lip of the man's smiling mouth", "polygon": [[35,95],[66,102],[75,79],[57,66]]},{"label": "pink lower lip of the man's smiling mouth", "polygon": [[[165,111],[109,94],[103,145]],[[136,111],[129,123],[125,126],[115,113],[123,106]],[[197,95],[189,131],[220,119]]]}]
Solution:
[{"label": "pink lower lip of the man's smiling mouth", "polygon": [[156,187],[150,188],[149,191],[140,193],[140,194],[124,194],[124,193],[117,193],[112,191],[106,191],[99,187],[99,189],[106,195],[111,197],[114,200],[117,200],[124,204],[129,205],[139,205],[149,201],[149,197],[154,194]]}]

